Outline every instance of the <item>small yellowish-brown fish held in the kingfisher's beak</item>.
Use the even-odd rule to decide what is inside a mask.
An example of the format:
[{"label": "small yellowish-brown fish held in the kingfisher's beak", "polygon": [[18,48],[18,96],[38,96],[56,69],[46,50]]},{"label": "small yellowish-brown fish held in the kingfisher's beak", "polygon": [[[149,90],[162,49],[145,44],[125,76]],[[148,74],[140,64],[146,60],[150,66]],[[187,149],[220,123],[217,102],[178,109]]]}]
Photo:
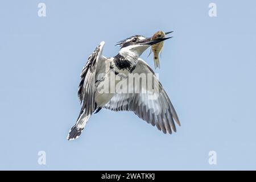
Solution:
[{"label": "small yellowish-brown fish held in the kingfisher's beak", "polygon": [[[163,31],[158,31],[156,32],[151,40],[156,40],[156,39],[159,39],[159,38],[165,38],[166,37],[166,34],[163,32]],[[154,52],[154,63],[155,63],[155,69],[156,68],[160,68],[160,63],[159,63],[159,53],[162,53],[163,51],[163,42],[159,42],[157,44],[154,44],[151,46],[151,49],[150,49],[150,53],[149,55]],[[149,56],[148,55],[148,56]]]}]

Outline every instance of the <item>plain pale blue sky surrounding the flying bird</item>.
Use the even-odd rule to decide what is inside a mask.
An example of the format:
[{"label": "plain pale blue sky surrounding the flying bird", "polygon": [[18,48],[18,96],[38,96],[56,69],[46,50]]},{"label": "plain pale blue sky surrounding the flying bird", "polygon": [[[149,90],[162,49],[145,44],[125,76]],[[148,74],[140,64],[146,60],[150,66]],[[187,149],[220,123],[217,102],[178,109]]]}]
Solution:
[{"label": "plain pale blue sky surrounding the flying bird", "polygon": [[[38,16],[40,2],[46,17]],[[208,15],[210,2],[217,17]],[[256,169],[255,1],[0,4],[0,169]],[[158,30],[174,31],[156,72],[179,115],[177,133],[101,110],[68,141],[94,48],[104,40],[104,55],[114,56],[119,40]],[[154,68],[149,51],[142,59]]]}]

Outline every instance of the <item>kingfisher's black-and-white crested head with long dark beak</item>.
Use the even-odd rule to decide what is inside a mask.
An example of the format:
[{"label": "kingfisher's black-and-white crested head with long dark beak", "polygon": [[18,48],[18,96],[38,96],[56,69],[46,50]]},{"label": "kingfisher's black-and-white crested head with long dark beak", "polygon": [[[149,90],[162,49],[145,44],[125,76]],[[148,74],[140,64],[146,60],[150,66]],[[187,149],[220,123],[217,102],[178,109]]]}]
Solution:
[{"label": "kingfisher's black-and-white crested head with long dark beak", "polygon": [[[170,32],[166,32],[166,34],[169,34],[169,33]],[[134,54],[134,56],[139,57],[142,55],[144,51],[146,51],[148,47],[170,38],[156,38],[153,40],[152,37],[145,38],[144,36],[141,36],[141,35],[134,35],[134,36],[131,36],[130,38],[119,41],[116,44],[116,46],[121,47],[119,51],[121,55],[125,56],[125,55]]]}]

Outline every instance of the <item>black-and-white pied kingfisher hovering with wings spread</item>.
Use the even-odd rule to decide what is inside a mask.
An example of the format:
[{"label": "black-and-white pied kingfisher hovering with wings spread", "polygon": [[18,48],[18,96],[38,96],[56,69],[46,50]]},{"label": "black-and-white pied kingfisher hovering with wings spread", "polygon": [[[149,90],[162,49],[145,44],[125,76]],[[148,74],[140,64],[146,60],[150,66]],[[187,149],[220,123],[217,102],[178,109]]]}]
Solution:
[{"label": "black-and-white pied kingfisher hovering with wings spread", "polygon": [[[170,32],[166,34],[168,33]],[[167,132],[171,134],[172,130],[176,132],[174,121],[179,126],[180,122],[174,106],[172,106],[154,71],[145,61],[139,58],[148,47],[166,39],[170,38],[152,40],[140,35],[131,36],[117,43],[117,46],[121,48],[116,56],[110,58],[102,55],[105,42],[98,45],[89,56],[80,75],[78,96],[81,102],[81,111],[75,125],[69,131],[68,140],[78,138],[90,115],[94,111],[98,113],[102,108],[114,111],[133,111],[139,118],[151,123],[152,126],[156,126],[164,134]],[[156,90],[148,89],[147,84],[141,86],[142,90],[146,90],[146,93],[100,92],[103,89],[102,83],[104,81],[113,80],[111,75],[121,75],[122,79],[113,81],[116,85],[120,80],[128,79],[128,75],[132,73],[137,73],[137,75],[141,73],[151,74],[154,80],[158,81],[157,93]],[[147,77],[146,79],[150,78]],[[128,87],[132,86],[134,85],[128,85]],[[158,97],[151,99],[152,94],[158,94]]]}]

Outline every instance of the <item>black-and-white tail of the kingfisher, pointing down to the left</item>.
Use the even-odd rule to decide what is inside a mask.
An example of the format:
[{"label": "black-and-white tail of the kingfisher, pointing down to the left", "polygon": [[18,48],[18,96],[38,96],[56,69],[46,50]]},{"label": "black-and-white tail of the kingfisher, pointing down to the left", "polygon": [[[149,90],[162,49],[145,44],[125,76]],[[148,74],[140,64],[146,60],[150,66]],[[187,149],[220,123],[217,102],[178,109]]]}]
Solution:
[{"label": "black-and-white tail of the kingfisher, pointing down to the left", "polygon": [[89,118],[90,114],[85,115],[84,112],[81,113],[79,118],[77,119],[76,124],[69,130],[67,139],[74,140],[76,138],[79,138]]}]

